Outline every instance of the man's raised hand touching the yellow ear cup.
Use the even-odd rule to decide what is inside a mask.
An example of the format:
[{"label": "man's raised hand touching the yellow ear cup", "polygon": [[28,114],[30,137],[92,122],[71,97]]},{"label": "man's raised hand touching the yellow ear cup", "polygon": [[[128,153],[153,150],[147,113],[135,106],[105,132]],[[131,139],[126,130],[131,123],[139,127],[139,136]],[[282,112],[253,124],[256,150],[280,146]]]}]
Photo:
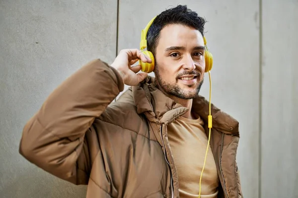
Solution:
[{"label": "man's raised hand touching the yellow ear cup", "polygon": [[140,49],[122,49],[111,64],[111,66],[117,69],[122,76],[124,84],[135,86],[147,77],[147,73],[144,72],[137,74],[141,70],[141,65],[131,66],[139,59],[143,62],[152,62],[152,60],[142,53]]}]

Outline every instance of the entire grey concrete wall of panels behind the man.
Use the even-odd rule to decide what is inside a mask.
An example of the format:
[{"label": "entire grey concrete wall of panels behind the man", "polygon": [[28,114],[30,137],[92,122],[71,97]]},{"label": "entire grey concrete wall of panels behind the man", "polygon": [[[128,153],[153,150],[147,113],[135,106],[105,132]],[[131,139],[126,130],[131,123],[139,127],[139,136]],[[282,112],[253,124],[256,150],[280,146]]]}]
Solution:
[{"label": "entire grey concrete wall of panels behind the man", "polygon": [[[139,48],[148,21],[182,2],[208,21],[212,101],[240,122],[244,197],[298,198],[298,1],[120,0],[118,51]],[[0,0],[0,30],[0,197],[85,197],[85,187],[30,164],[18,146],[24,124],[65,78],[93,58],[113,61],[117,0]]]}]

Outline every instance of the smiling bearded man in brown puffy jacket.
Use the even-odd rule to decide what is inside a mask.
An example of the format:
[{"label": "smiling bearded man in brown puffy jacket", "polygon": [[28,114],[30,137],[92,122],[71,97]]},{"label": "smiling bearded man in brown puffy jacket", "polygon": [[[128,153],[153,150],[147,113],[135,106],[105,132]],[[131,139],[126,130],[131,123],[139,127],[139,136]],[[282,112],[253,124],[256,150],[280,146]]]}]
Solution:
[{"label": "smiling bearded man in brown puffy jacket", "polygon": [[[179,5],[148,32],[156,79],[131,66],[152,59],[121,50],[109,66],[86,64],[23,129],[20,153],[49,173],[87,185],[87,198],[240,198],[238,122],[198,96],[205,71],[204,19]],[[124,84],[132,86],[117,101]],[[201,192],[200,192],[201,189]]]}]

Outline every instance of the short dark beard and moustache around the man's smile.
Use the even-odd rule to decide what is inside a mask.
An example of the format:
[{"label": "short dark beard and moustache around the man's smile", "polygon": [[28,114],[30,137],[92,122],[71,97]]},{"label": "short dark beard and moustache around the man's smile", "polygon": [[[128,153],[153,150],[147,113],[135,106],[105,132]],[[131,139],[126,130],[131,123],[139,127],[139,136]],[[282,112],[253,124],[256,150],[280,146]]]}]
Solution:
[{"label": "short dark beard and moustache around the man's smile", "polygon": [[169,83],[169,82],[164,81],[161,78],[161,76],[159,74],[159,71],[158,71],[158,67],[156,65],[155,83],[157,85],[159,85],[160,88],[168,95],[172,95],[172,96],[177,97],[179,99],[195,99],[199,95],[201,86],[204,82],[204,78],[202,79],[202,81],[198,85],[189,85],[188,86],[189,88],[196,86],[196,87],[194,87],[193,91],[186,91],[186,90],[183,90],[183,88],[181,88],[178,85],[178,79],[181,76],[184,76],[184,75],[197,75],[197,78],[201,78],[201,73],[199,73],[197,71],[191,71],[191,72],[185,71],[183,73],[179,73],[176,76],[176,83]]}]

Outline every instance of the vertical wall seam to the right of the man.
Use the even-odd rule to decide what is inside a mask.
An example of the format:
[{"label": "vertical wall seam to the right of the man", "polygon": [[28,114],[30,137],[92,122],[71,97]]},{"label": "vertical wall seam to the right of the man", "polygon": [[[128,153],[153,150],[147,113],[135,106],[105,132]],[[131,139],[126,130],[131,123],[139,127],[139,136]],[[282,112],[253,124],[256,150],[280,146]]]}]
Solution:
[{"label": "vertical wall seam to the right of the man", "polygon": [[262,193],[262,87],[263,87],[263,80],[262,80],[262,63],[263,63],[263,23],[262,23],[262,0],[259,0],[259,167],[258,167],[258,197],[261,198]]}]

